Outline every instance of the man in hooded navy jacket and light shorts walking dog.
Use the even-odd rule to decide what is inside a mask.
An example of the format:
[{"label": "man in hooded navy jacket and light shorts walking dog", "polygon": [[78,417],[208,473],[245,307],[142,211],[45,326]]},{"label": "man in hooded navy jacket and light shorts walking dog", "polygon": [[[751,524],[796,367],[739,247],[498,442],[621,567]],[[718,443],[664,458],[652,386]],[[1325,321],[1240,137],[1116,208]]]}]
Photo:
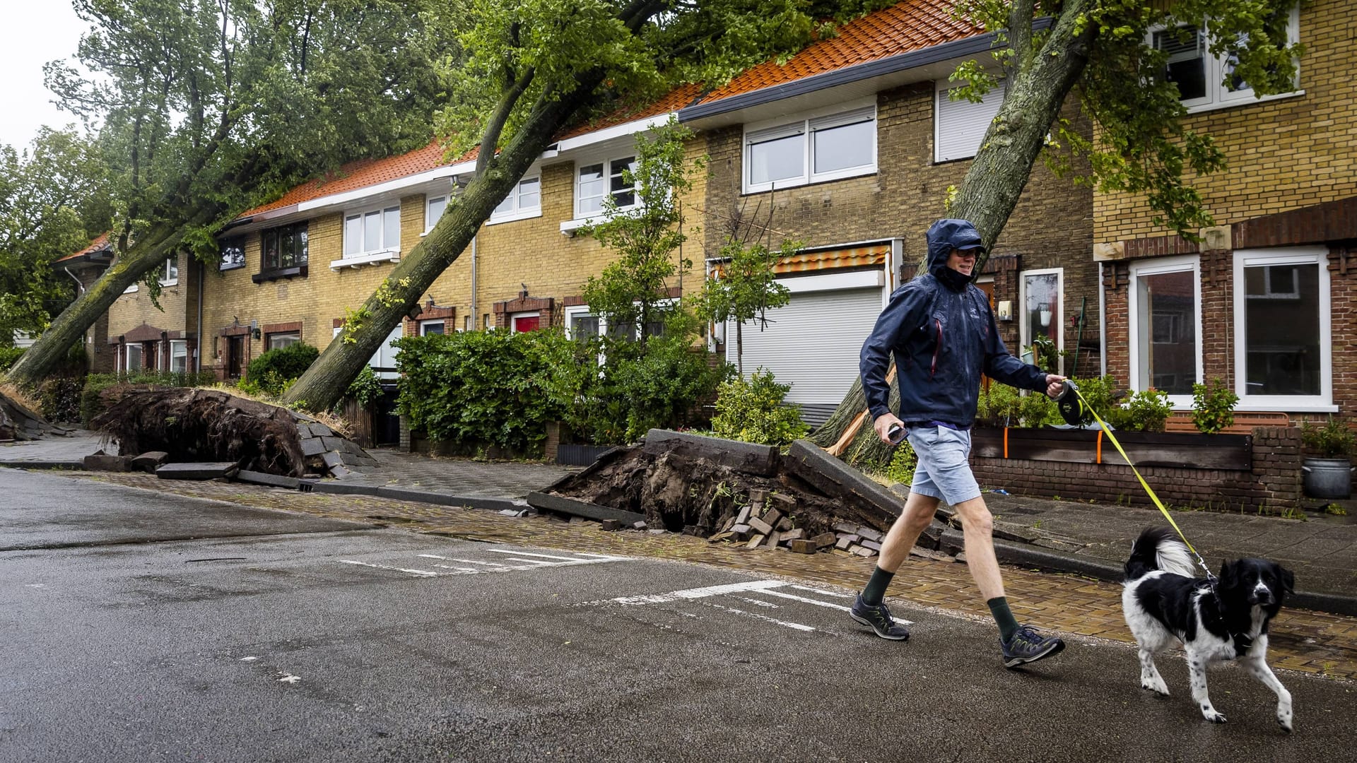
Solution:
[{"label": "man in hooded navy jacket and light shorts walking dog", "polygon": [[[881,557],[849,616],[877,635],[909,638],[886,608],[890,578],[932,521],[940,500],[961,517],[970,567],[985,604],[999,625],[999,645],[1008,668],[1050,657],[1065,648],[1056,637],[1018,625],[1008,611],[1004,581],[995,558],[993,517],[966,460],[976,418],[981,373],[1023,390],[1057,396],[1064,376],[1046,373],[1008,354],[985,293],[972,285],[976,255],[985,246],[966,220],[939,220],[928,228],[928,273],[890,295],[890,304],[862,346],[862,387],[877,436],[890,443],[902,428],[919,458],[909,498],[881,544]],[[892,354],[900,380],[900,415],[887,405],[886,369]]]}]

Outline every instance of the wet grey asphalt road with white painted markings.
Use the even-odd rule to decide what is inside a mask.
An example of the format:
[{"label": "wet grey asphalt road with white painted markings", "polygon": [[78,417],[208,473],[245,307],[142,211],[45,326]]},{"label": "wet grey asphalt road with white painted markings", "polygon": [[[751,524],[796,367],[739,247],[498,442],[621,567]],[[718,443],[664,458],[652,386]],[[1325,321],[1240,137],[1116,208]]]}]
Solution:
[{"label": "wet grey asphalt road with white painted markings", "polygon": [[1229,722],[1125,645],[653,559],[471,543],[0,468],[0,762],[1350,760],[1357,686],[1236,668]]}]

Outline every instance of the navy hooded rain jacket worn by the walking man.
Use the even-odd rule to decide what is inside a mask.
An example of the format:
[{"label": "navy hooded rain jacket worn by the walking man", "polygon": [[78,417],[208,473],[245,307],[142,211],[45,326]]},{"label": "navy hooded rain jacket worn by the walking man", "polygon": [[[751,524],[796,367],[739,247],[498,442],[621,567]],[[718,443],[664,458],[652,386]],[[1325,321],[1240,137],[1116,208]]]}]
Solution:
[{"label": "navy hooded rain jacket worn by the walking man", "polygon": [[873,421],[890,410],[890,353],[900,379],[898,415],[906,424],[970,426],[981,373],[1045,392],[1046,372],[1008,354],[985,293],[955,270],[938,277],[953,247],[978,243],[980,234],[965,220],[939,220],[928,228],[928,273],[890,295],[890,304],[862,345],[862,388]]}]

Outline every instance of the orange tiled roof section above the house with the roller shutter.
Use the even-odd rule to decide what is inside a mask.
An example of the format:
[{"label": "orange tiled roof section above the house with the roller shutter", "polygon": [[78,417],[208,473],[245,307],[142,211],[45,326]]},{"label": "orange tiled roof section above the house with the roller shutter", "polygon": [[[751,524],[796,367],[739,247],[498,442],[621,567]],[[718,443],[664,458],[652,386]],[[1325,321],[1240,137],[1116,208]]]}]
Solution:
[{"label": "orange tiled roof section above the house with the roller shutter", "polygon": [[767,61],[745,71],[702,103],[984,33],[954,16],[953,7],[954,0],[904,0],[839,27],[837,35],[810,45],[783,65]]}]

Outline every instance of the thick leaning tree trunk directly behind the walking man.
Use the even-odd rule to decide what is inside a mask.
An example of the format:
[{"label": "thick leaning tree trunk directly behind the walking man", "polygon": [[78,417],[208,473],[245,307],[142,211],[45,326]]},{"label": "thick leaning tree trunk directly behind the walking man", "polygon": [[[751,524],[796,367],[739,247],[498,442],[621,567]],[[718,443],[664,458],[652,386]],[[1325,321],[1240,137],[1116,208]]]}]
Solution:
[{"label": "thick leaning tree trunk directly behind the walking man", "polygon": [[[980,151],[961,183],[951,216],[970,220],[989,246],[999,240],[1027,185],[1031,166],[1041,155],[1050,125],[1088,62],[1098,24],[1088,23],[1080,30],[1076,20],[1090,5],[1090,0],[1065,3],[1042,48],[1023,57],[1019,72],[1010,77],[1004,103],[985,132]],[[976,262],[977,273],[984,267],[987,255]],[[927,263],[921,263],[921,272],[927,272]],[[898,410],[898,402],[900,390],[893,382],[892,410]],[[837,443],[866,407],[867,399],[859,377],[810,439],[820,447]],[[890,452],[892,447],[881,443],[871,422],[864,421],[841,458],[852,464],[881,468],[889,463]]]}]

